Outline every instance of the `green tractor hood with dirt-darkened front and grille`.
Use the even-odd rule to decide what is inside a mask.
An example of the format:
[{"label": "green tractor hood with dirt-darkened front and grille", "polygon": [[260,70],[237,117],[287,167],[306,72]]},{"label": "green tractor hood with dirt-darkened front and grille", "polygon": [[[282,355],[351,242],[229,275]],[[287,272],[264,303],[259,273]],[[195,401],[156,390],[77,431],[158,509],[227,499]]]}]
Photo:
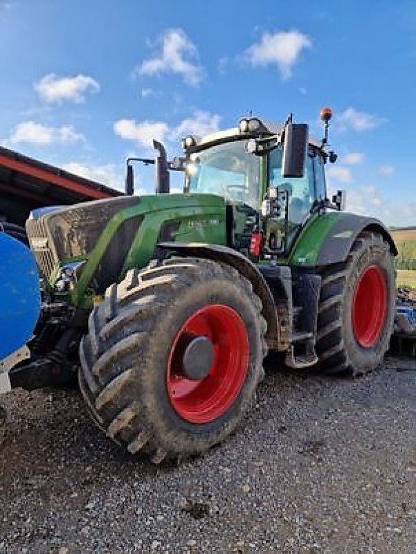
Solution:
[{"label": "green tractor hood with dirt-darkened front and grille", "polygon": [[32,214],[26,230],[51,286],[62,266],[82,260],[79,285],[87,287],[88,280],[102,294],[128,269],[146,265],[158,242],[225,244],[225,204],[215,195],[117,197]]}]

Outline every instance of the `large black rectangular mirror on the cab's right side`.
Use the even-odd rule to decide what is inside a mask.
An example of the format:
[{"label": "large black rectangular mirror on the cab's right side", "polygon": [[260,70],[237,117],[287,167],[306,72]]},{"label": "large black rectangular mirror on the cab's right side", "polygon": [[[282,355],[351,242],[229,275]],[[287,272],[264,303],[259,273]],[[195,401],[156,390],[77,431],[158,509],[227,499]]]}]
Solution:
[{"label": "large black rectangular mirror on the cab's right side", "polygon": [[284,129],[282,177],[303,177],[307,145],[307,124],[288,123]]}]

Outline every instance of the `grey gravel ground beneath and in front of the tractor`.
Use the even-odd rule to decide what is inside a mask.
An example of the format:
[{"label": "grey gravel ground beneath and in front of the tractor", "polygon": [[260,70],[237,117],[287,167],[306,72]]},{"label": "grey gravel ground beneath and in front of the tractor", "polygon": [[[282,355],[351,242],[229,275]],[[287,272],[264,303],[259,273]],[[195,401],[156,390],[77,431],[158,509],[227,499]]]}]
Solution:
[{"label": "grey gravel ground beneath and in front of the tractor", "polygon": [[269,368],[237,434],[180,466],[124,454],[76,391],[1,403],[0,553],[416,553],[414,360]]}]

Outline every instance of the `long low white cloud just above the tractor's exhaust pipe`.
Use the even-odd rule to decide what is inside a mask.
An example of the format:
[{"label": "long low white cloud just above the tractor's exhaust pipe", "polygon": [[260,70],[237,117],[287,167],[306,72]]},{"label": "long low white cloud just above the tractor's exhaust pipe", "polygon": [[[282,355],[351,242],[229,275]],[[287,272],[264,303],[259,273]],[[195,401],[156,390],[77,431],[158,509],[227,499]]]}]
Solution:
[{"label": "long low white cloud just above the tractor's exhaust pipe", "polygon": [[193,117],[183,119],[176,127],[170,127],[164,121],[136,121],[120,119],[113,125],[114,132],[122,139],[135,141],[141,146],[152,148],[152,139],[156,141],[177,141],[187,134],[204,136],[218,131],[220,116],[209,111],[195,110]]}]

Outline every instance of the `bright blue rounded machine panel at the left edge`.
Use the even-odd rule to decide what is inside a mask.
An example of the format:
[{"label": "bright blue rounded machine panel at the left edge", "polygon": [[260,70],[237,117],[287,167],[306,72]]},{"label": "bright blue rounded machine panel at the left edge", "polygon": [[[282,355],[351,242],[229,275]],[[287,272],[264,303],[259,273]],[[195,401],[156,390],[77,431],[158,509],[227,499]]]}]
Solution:
[{"label": "bright blue rounded machine panel at the left edge", "polygon": [[0,233],[0,364],[33,336],[41,305],[35,258]]}]

